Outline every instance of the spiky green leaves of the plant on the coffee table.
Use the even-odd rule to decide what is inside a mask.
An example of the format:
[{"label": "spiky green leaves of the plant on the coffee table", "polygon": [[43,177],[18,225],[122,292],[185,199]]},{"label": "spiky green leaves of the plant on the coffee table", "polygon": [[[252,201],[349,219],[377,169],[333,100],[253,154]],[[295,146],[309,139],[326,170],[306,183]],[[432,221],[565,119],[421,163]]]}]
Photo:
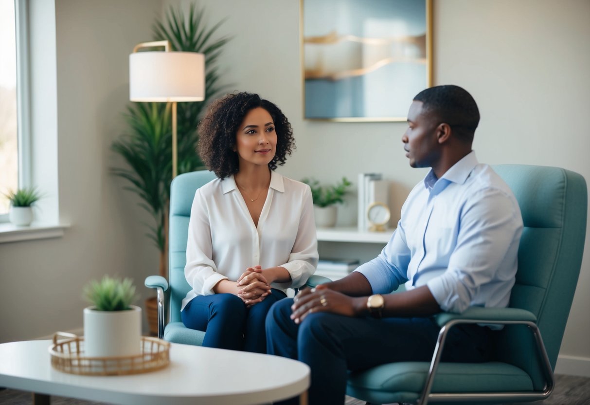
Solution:
[{"label": "spiky green leaves of the plant on the coffee table", "polygon": [[139,298],[132,279],[121,280],[108,275],[84,286],[83,295],[97,311],[125,311],[131,309],[130,305]]}]

